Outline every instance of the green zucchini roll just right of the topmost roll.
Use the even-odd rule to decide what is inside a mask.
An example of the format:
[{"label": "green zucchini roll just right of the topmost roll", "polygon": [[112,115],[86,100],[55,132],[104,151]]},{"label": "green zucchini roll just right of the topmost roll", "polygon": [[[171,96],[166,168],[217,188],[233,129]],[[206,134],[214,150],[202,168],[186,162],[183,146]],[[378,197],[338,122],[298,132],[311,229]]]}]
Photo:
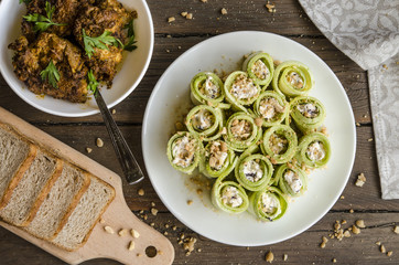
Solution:
[{"label": "green zucchini roll just right of the topmost roll", "polygon": [[272,86],[288,97],[295,97],[308,94],[313,83],[313,75],[306,65],[287,61],[276,67]]}]

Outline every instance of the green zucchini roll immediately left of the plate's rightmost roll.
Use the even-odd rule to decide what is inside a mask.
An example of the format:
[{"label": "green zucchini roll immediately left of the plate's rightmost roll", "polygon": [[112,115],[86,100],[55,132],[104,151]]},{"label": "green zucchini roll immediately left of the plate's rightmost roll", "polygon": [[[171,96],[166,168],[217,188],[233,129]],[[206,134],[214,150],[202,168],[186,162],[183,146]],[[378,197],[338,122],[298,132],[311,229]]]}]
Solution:
[{"label": "green zucchini roll immediately left of the plate's rightmost roll", "polygon": [[274,125],[265,131],[260,148],[272,163],[284,163],[295,155],[298,139],[295,131],[288,125]]}]

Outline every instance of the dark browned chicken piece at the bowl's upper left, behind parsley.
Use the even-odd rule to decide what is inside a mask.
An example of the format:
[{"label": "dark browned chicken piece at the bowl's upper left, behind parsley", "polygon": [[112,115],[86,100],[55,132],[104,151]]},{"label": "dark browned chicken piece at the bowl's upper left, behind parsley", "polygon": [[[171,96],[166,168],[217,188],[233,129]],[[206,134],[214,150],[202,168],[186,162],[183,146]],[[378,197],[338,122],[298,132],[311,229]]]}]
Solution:
[{"label": "dark browned chicken piece at the bowl's upper left, behind parsley", "polygon": [[[32,0],[26,4],[26,14],[39,13],[46,17],[45,11],[46,0]],[[51,25],[46,32],[55,33],[58,36],[66,36],[72,34],[74,22],[76,15],[79,11],[80,4],[84,4],[86,1],[79,0],[50,0],[47,1],[51,7],[54,7],[54,13],[52,15],[52,21],[58,24],[66,25]],[[47,17],[46,17],[47,18]],[[34,23],[28,22],[26,20],[22,21],[22,34],[28,38],[28,40],[33,41],[35,32],[33,31]]]}]

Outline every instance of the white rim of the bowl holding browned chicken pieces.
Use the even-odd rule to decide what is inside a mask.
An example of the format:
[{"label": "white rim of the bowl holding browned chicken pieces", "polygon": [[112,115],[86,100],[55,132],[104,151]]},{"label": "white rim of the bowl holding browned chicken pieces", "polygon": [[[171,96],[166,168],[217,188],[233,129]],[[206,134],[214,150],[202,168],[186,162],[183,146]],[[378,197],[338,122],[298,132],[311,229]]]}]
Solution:
[{"label": "white rim of the bowl holding browned chicken pieces", "polygon": [[[9,2],[11,2],[11,1],[12,0],[3,0],[0,2],[0,14],[2,12],[6,12],[6,11],[3,11],[3,9],[6,9],[4,7],[7,4],[9,4]],[[17,1],[15,1],[15,3],[17,3]],[[129,89],[126,89],[126,92],[122,95],[120,95],[117,99],[115,99],[110,103],[108,103],[107,96],[103,95],[107,103],[108,108],[112,108],[114,106],[116,106],[117,104],[122,102],[126,97],[128,97],[134,91],[134,88],[140,84],[141,80],[143,78],[143,76],[150,65],[151,59],[152,59],[153,45],[154,45],[154,29],[153,29],[152,15],[151,15],[150,8],[148,7],[145,0],[139,0],[139,3],[142,4],[142,7],[140,7],[140,8],[142,8],[144,10],[144,15],[143,15],[143,13],[139,14],[139,19],[142,18],[143,23],[147,23],[149,25],[149,29],[148,29],[149,30],[149,32],[148,32],[149,40],[147,40],[149,42],[148,56],[145,59],[144,65],[143,65],[140,74],[138,75],[137,80],[130,85]],[[40,100],[32,100],[30,98],[26,98],[20,88],[20,87],[24,87],[25,85],[22,82],[19,82],[21,84],[21,86],[14,87],[14,85],[13,85],[14,82],[12,81],[12,78],[15,78],[15,77],[10,77],[6,74],[6,68],[12,67],[12,66],[11,66],[11,64],[7,64],[7,63],[3,64],[2,62],[7,61],[7,60],[3,60],[2,56],[3,56],[3,54],[1,53],[0,54],[0,72],[2,73],[3,78],[6,80],[7,84],[13,89],[13,92],[19,97],[21,97],[25,103],[30,104],[31,106],[33,106],[42,112],[45,112],[45,113],[48,113],[52,115],[56,115],[56,116],[62,116],[62,117],[85,117],[85,116],[90,116],[90,115],[95,115],[95,114],[99,113],[99,109],[97,107],[94,109],[89,109],[89,110],[82,109],[82,112],[78,112],[78,113],[58,112],[55,109],[50,109],[50,108],[43,107],[40,104]],[[117,76],[118,76],[118,74],[117,74]],[[53,100],[53,98],[51,100]],[[60,100],[60,99],[54,99],[54,100]],[[56,104],[56,102],[54,102],[54,104]],[[97,106],[96,103],[93,103],[93,104],[95,104],[95,106]],[[76,104],[76,105],[78,105],[78,104]]]}]

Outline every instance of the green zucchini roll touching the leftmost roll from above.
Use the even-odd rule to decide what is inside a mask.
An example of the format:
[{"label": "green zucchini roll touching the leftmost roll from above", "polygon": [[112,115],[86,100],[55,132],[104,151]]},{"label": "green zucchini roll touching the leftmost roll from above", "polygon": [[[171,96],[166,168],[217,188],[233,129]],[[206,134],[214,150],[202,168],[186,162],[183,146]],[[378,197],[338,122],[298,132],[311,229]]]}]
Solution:
[{"label": "green zucchini roll touching the leftmost roll from above", "polygon": [[193,107],[185,118],[188,131],[204,141],[217,139],[222,134],[223,124],[222,110],[207,105]]}]

